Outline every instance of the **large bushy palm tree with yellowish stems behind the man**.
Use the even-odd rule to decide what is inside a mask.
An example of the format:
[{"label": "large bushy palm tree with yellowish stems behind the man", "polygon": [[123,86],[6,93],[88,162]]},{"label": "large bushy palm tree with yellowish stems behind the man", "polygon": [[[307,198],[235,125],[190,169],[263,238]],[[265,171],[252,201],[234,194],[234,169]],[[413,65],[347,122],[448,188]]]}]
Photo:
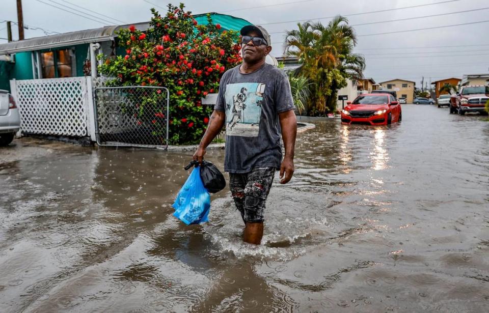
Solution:
[{"label": "large bushy palm tree with yellowish stems behind the man", "polygon": [[297,57],[299,73],[311,81],[309,113],[322,115],[336,108],[337,92],[347,79],[363,77],[365,59],[352,53],[357,36],[345,17],[336,16],[325,26],[307,21],[297,27],[286,34],[285,53]]}]

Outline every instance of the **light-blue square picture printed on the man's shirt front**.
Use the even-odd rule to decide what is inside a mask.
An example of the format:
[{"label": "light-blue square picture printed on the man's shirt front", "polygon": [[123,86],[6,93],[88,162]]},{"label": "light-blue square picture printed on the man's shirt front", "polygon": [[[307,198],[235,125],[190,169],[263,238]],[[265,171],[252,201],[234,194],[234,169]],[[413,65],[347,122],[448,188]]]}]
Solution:
[{"label": "light-blue square picture printed on the man's shirt front", "polygon": [[258,82],[226,85],[226,134],[258,137],[265,84]]}]

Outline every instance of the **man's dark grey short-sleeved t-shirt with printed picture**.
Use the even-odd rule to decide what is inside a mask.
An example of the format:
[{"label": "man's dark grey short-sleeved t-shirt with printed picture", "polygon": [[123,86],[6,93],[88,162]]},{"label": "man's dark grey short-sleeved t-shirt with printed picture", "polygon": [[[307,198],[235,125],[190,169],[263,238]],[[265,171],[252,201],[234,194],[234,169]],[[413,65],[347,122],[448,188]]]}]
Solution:
[{"label": "man's dark grey short-sleeved t-shirt with printed picture", "polygon": [[264,64],[250,74],[239,65],[221,78],[215,109],[226,112],[224,170],[248,173],[252,168],[280,168],[279,113],[294,108],[287,75]]}]

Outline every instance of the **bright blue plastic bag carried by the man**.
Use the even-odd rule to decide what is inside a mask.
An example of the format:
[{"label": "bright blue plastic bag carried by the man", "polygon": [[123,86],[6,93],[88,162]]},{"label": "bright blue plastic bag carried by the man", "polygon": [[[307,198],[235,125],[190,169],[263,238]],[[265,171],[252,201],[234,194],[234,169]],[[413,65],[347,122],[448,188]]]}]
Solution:
[{"label": "bright blue plastic bag carried by the man", "polygon": [[177,194],[173,204],[173,216],[187,225],[207,222],[210,209],[210,194],[202,184],[200,170],[195,167]]}]

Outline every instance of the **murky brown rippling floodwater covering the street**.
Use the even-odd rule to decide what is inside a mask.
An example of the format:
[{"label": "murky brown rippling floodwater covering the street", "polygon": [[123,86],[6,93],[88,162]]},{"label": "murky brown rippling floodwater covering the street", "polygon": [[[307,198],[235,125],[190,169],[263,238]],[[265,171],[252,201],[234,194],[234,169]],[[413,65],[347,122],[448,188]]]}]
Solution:
[{"label": "murky brown rippling floodwater covering the street", "polygon": [[0,312],[489,311],[485,118],[403,105],[389,127],[317,122],[260,246],[228,190],[208,223],[172,216],[191,152],[16,140],[0,150]]}]

